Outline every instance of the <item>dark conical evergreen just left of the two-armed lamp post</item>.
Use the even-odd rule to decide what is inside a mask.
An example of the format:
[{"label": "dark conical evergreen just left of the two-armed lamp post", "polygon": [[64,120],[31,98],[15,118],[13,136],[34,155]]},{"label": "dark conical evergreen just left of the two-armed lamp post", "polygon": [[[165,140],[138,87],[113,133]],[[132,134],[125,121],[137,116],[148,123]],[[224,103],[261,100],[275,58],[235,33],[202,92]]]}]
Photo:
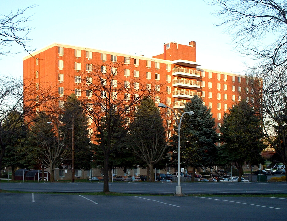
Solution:
[{"label": "dark conical evergreen just left of the two-armed lamp post", "polygon": [[147,180],[154,181],[154,165],[167,158],[167,142],[163,118],[152,99],[140,102],[135,124],[129,136],[130,149],[147,165]]}]

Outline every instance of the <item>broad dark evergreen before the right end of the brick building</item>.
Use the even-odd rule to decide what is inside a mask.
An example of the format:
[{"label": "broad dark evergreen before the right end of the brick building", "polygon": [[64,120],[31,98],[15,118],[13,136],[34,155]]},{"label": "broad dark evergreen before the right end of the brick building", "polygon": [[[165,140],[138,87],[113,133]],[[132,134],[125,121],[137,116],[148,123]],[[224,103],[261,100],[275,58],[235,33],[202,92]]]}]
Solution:
[{"label": "broad dark evergreen before the right end of the brick building", "polygon": [[233,162],[239,172],[239,181],[243,175],[243,164],[264,164],[260,156],[266,147],[263,144],[262,128],[258,115],[245,100],[233,105],[224,114],[220,155],[226,162]]}]

